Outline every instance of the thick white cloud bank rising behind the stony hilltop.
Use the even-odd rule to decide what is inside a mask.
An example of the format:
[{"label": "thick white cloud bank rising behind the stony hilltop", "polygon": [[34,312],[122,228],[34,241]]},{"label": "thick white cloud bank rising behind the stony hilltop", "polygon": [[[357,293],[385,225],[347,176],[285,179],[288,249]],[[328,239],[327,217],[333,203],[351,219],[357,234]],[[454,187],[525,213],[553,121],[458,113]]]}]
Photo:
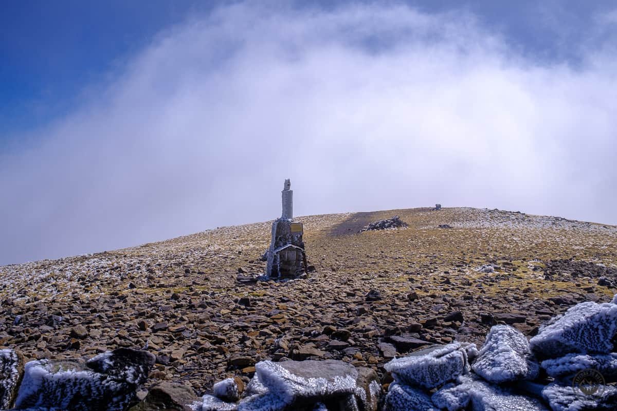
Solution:
[{"label": "thick white cloud bank rising behind the stony hilltop", "polygon": [[284,178],[297,215],[442,203],[617,224],[617,65],[586,53],[536,63],[471,15],[405,6],[218,9],[0,154],[0,264],[276,218]]}]

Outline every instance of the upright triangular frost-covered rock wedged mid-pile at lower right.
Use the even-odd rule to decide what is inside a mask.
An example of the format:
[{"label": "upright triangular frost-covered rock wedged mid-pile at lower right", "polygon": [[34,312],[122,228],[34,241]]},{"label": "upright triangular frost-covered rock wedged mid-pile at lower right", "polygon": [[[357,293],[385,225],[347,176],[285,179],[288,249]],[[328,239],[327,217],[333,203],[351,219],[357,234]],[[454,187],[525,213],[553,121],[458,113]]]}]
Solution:
[{"label": "upright triangular frost-covered rock wedged mid-pile at lower right", "polygon": [[533,380],[539,372],[539,365],[529,349],[529,341],[523,333],[509,325],[491,328],[471,368],[485,380],[496,384]]}]

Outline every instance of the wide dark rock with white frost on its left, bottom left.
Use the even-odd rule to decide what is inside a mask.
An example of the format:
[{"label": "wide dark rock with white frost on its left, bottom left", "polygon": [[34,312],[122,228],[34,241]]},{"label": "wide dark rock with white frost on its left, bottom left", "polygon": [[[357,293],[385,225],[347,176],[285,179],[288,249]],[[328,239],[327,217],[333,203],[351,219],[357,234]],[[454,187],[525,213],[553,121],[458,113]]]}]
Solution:
[{"label": "wide dark rock with white frost on its left, bottom left", "polygon": [[[116,354],[117,353],[117,354]],[[118,349],[89,360],[35,360],[25,365],[15,408],[123,410],[146,381],[154,356]]]}]

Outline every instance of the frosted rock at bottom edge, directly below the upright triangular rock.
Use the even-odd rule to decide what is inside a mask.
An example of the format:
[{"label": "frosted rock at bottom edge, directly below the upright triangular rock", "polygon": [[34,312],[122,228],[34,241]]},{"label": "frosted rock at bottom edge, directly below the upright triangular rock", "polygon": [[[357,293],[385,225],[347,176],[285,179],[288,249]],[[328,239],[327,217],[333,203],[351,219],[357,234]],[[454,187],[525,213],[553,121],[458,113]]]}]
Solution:
[{"label": "frosted rock at bottom edge, directly below the upright triangular rock", "polygon": [[486,381],[461,376],[458,385],[447,385],[433,394],[433,403],[449,411],[548,411],[540,401],[522,396]]}]

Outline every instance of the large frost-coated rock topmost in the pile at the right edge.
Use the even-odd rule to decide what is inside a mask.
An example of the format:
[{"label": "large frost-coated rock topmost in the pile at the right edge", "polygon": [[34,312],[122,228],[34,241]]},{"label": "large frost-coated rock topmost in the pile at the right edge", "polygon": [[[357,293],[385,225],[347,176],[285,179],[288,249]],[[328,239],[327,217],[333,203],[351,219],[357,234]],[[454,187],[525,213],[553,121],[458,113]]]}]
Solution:
[{"label": "large frost-coated rock topmost in the pile at the right edge", "polygon": [[576,304],[564,314],[542,325],[529,343],[539,359],[563,357],[579,352],[611,352],[617,333],[617,304]]}]

